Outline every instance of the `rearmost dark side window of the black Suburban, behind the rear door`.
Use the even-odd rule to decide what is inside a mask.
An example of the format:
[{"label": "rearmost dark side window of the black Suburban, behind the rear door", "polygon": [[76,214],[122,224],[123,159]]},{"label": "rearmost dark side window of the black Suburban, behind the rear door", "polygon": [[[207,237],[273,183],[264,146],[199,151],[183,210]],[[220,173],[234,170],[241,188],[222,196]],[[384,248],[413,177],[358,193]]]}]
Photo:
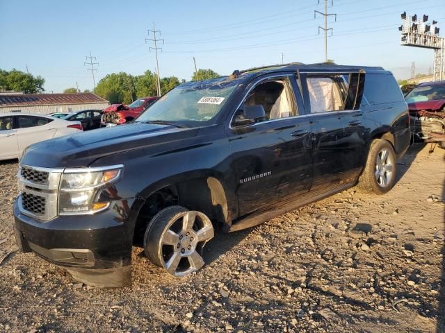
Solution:
[{"label": "rearmost dark side window of the black Suburban, behind the rear door", "polygon": [[405,101],[401,88],[390,74],[366,74],[364,96],[372,105]]}]

